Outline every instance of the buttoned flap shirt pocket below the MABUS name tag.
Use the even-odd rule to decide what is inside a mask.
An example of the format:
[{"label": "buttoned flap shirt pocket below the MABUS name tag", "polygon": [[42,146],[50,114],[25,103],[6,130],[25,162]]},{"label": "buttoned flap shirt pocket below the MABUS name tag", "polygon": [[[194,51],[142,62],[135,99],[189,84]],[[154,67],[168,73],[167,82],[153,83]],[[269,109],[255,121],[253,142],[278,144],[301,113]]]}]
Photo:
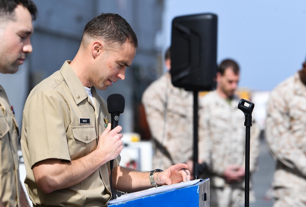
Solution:
[{"label": "buttoned flap shirt pocket below the MABUS name tag", "polygon": [[94,126],[73,126],[73,137],[69,148],[71,159],[84,156],[97,148],[97,133]]}]

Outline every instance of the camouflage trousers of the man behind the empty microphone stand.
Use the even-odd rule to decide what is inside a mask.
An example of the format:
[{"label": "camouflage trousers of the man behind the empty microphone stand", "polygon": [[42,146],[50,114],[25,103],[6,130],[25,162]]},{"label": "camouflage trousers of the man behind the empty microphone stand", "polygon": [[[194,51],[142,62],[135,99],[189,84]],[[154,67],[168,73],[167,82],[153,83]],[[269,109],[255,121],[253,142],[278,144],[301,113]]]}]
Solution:
[{"label": "camouflage trousers of the man behind the empty microphone stand", "polygon": [[[254,202],[255,194],[249,193],[250,202]],[[244,204],[244,190],[226,186],[223,188],[210,187],[211,207],[239,207]]]}]

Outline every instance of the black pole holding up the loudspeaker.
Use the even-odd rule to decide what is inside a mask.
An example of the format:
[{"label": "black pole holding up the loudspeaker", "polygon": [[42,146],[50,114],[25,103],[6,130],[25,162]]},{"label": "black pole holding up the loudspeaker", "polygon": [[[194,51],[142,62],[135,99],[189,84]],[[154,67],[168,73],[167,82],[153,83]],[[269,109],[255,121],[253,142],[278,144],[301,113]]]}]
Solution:
[{"label": "black pole holding up the loudspeaker", "polygon": [[193,91],[193,176],[196,179],[199,175],[198,164],[198,92]]}]

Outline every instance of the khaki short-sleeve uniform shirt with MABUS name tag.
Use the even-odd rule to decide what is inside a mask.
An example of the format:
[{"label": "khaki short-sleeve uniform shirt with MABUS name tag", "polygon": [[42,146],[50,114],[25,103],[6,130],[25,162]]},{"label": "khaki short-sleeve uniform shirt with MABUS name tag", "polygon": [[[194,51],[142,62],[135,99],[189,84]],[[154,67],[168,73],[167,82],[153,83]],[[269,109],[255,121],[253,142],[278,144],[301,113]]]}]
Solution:
[{"label": "khaki short-sleeve uniform shirt with MABUS name tag", "polygon": [[[104,99],[92,87],[92,103],[70,62],[35,86],[24,106],[21,146],[27,171],[25,186],[34,206],[104,206],[111,197],[109,162],[82,182],[49,194],[35,183],[35,163],[50,158],[71,161],[90,153],[105,129],[104,117],[110,119]],[[114,167],[119,162],[120,155]]]}]

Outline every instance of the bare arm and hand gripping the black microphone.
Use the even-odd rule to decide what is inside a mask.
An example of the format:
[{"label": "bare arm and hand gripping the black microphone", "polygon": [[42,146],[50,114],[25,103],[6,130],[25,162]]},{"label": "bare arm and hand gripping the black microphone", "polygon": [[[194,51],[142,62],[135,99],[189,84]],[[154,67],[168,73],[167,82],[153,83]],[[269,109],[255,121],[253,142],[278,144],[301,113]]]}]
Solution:
[{"label": "bare arm and hand gripping the black microphone", "polygon": [[121,126],[111,130],[110,123],[99,136],[97,148],[88,155],[71,162],[61,159],[46,159],[33,165],[33,174],[38,187],[45,193],[64,189],[83,181],[109,160],[116,159],[122,145]]}]

